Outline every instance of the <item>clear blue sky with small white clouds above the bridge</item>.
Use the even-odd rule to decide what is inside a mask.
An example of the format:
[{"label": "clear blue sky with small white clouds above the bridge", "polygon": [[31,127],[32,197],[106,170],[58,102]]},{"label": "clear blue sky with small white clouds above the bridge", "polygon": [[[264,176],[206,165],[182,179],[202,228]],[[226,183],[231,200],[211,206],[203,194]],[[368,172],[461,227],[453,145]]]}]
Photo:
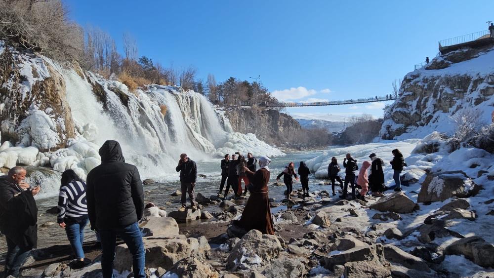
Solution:
[{"label": "clear blue sky with small white clouds above the bridge", "polygon": [[[97,26],[139,56],[222,81],[261,76],[288,101],[391,93],[391,83],[438,53],[438,40],[487,29],[494,1],[65,0],[72,19]],[[384,103],[290,108],[290,114],[382,116]],[[328,117],[328,116],[323,116]]]}]

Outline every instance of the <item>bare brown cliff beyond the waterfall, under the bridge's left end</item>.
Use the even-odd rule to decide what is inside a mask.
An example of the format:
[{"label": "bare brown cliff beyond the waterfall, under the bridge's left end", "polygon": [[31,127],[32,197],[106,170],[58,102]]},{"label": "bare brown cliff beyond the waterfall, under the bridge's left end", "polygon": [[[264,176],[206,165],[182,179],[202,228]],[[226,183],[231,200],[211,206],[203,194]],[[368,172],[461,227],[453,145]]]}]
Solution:
[{"label": "bare brown cliff beyond the waterfall, under the bridge's left end", "polygon": [[241,107],[225,111],[232,128],[240,133],[253,133],[259,139],[275,145],[283,145],[287,136],[300,131],[298,121],[274,109]]}]

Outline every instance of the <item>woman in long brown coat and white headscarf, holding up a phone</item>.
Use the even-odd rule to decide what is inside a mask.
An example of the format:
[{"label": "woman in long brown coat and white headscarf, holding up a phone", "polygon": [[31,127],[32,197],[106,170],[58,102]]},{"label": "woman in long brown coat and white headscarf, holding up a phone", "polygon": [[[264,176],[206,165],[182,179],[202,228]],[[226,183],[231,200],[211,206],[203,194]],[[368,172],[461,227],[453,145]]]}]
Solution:
[{"label": "woman in long brown coat and white headscarf, holding up a phone", "polygon": [[242,213],[242,217],[234,224],[246,231],[258,230],[263,234],[274,235],[273,220],[269,208],[268,183],[271,159],[262,156],[259,158],[259,170],[255,173],[245,167],[250,184],[250,197]]}]

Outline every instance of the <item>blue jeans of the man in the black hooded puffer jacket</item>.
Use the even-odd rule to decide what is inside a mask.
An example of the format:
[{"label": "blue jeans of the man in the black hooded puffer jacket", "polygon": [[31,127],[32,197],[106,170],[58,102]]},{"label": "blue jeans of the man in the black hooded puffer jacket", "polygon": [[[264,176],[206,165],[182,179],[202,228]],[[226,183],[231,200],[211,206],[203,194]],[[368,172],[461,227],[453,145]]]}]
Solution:
[{"label": "blue jeans of the man in the black hooded puffer jacket", "polygon": [[133,256],[132,268],[134,270],[134,278],[146,277],[144,274],[144,264],[146,260],[144,244],[142,243],[142,233],[137,222],[124,228],[108,230],[100,229],[99,235],[101,237],[101,249],[103,251],[101,257],[103,278],[113,278],[113,261],[115,259],[117,235],[124,239],[125,244],[128,246],[128,250]]}]

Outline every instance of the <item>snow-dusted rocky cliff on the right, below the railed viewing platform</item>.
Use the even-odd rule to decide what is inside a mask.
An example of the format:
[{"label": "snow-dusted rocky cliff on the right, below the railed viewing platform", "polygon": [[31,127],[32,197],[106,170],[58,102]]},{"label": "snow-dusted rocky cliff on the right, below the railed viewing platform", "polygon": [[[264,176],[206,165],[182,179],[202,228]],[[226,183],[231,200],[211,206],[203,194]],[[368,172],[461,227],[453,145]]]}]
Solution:
[{"label": "snow-dusted rocky cliff on the right, below the railed viewing platform", "polygon": [[[457,118],[478,114],[491,123],[494,110],[494,48],[462,49],[433,59],[405,76],[399,98],[384,115],[383,139],[453,134]],[[468,117],[466,117],[468,118]]]}]

